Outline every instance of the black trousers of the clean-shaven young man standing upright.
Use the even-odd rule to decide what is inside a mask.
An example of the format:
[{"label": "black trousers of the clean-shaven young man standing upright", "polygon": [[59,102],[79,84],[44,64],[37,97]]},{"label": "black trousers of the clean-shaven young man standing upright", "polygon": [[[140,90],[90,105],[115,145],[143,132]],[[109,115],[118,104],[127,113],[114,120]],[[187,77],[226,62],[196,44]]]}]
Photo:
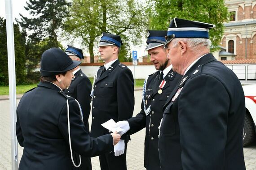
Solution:
[{"label": "black trousers of the clean-shaven young man standing upright", "polygon": [[99,156],[101,170],[127,170],[126,166],[127,142],[124,142],[124,154],[115,156],[114,150]]}]

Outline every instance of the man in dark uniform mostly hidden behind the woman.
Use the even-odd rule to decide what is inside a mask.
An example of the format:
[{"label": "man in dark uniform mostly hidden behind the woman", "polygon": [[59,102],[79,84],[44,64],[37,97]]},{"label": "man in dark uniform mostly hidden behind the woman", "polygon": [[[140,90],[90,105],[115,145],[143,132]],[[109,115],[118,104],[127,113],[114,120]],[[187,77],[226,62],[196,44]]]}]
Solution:
[{"label": "man in dark uniform mostly hidden behind the woman", "polygon": [[[65,53],[74,61],[81,62],[84,59],[83,51],[79,48],[67,46]],[[88,77],[82,72],[81,68],[77,66],[73,69],[74,78],[71,81],[71,85],[64,90],[64,93],[75,98],[82,109],[84,126],[86,131],[89,133],[88,118],[91,111],[91,90],[92,84]],[[78,154],[75,155],[77,162],[79,162]],[[81,156],[81,166],[79,170],[92,170],[92,163],[90,157]]]}]

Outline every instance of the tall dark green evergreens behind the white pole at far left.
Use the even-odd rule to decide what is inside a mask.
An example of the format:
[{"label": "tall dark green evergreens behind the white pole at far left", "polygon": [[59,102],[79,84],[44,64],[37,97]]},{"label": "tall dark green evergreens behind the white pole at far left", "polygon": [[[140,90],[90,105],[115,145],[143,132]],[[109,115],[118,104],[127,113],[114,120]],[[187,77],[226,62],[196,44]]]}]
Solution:
[{"label": "tall dark green evergreens behind the white pole at far left", "polygon": [[[18,24],[13,24],[16,83],[22,84],[26,81],[25,68],[25,37],[24,32],[20,32]],[[8,54],[6,37],[6,20],[0,17],[0,85],[8,85]]]}]

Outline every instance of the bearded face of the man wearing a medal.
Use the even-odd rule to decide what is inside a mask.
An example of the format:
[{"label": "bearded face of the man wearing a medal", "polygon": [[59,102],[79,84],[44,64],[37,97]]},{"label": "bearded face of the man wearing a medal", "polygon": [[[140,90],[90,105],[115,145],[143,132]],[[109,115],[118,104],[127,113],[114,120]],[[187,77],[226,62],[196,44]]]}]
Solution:
[{"label": "bearded face of the man wearing a medal", "polygon": [[148,50],[148,55],[150,55],[150,61],[154,64],[154,68],[157,70],[164,70],[170,64],[168,64],[168,59],[166,58],[166,51],[163,46],[155,47]]}]

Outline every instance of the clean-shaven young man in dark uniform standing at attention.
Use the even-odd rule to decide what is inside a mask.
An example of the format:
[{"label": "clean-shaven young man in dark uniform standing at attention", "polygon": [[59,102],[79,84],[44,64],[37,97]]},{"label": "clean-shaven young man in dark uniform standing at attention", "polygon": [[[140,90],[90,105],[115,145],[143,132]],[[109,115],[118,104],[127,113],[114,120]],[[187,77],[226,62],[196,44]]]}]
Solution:
[{"label": "clean-shaven young man in dark uniform standing at attention", "polygon": [[[108,134],[102,127],[109,119],[115,122],[132,117],[134,109],[134,81],[132,72],[118,60],[122,45],[119,35],[103,33],[99,43],[101,58],[105,61],[94,77],[91,136]],[[121,137],[110,153],[99,156],[102,170],[126,170],[126,149],[129,135]]]}]

